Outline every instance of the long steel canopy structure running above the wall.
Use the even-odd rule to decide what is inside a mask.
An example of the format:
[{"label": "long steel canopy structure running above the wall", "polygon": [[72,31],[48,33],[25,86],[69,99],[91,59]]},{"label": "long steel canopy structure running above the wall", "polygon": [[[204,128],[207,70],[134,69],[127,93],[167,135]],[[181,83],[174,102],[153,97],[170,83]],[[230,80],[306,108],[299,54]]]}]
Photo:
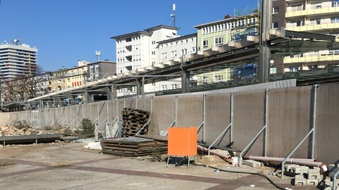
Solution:
[{"label": "long steel canopy structure running above the wall", "polygon": [[[339,42],[335,42],[335,37],[325,34],[313,34],[308,32],[287,31],[285,28],[270,30],[268,44],[270,48],[271,59],[283,56],[292,56],[310,51],[319,51],[323,49],[338,49]],[[107,79],[97,82],[90,82],[83,87],[76,87],[57,91],[52,94],[37,97],[28,100],[27,103],[42,103],[49,101],[56,103],[56,99],[72,99],[72,96],[83,95],[86,101],[89,101],[90,94],[106,94],[107,99],[113,98],[113,89],[136,86],[138,95],[143,94],[143,85],[151,82],[172,80],[178,77],[182,78],[182,93],[190,91],[190,75],[222,70],[225,68],[234,68],[244,63],[258,63],[259,58],[258,36],[247,37],[246,39],[232,42],[227,45],[215,46],[206,51],[198,51],[189,57],[182,58],[179,61],[168,61],[160,63],[154,67],[145,68],[143,71],[118,74],[117,76],[108,77]],[[338,72],[331,72],[338,75]],[[309,75],[311,76],[311,75]],[[297,75],[271,75],[272,80],[285,80],[292,77],[300,77]],[[307,78],[309,79],[309,78]],[[335,80],[338,79],[334,77]],[[305,80],[305,79],[304,79]],[[239,82],[243,84],[258,83],[258,78],[254,77],[250,82]],[[237,82],[222,82],[224,84]],[[221,84],[221,83],[220,83]],[[212,85],[213,87],[215,85]],[[220,85],[219,85],[220,86]],[[222,86],[222,85],[221,85]],[[226,85],[227,86],[227,85]],[[196,88],[204,90],[203,88]],[[211,88],[209,88],[211,89]],[[213,88],[212,88],[213,89]],[[208,90],[205,89],[205,90]],[[178,90],[174,90],[178,91]],[[194,90],[196,91],[196,90]],[[71,101],[69,101],[70,103]]]}]

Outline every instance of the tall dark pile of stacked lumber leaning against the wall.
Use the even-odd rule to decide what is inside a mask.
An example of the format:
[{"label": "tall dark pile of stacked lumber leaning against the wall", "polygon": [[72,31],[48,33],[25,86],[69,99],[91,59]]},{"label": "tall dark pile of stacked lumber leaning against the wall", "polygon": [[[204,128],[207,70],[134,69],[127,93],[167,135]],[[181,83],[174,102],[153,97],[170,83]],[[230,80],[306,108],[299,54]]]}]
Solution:
[{"label": "tall dark pile of stacked lumber leaning against the wall", "polygon": [[[141,130],[148,122],[150,113],[145,110],[124,108],[122,110],[122,129],[121,137],[131,137]],[[147,134],[148,126],[145,126],[139,134]]]}]

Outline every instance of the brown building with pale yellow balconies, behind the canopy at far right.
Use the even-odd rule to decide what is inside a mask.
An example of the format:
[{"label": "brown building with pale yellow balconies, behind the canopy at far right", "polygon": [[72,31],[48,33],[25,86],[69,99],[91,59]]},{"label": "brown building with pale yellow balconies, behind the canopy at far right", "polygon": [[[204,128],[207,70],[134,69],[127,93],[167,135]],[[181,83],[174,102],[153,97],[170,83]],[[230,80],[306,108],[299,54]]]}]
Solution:
[{"label": "brown building with pale yellow balconies, behind the canopy at far right", "polygon": [[[272,27],[339,37],[339,0],[273,1]],[[278,72],[297,72],[339,64],[339,49],[323,49],[275,61]],[[279,65],[281,65],[279,67]],[[279,67],[279,68],[278,68]]]}]

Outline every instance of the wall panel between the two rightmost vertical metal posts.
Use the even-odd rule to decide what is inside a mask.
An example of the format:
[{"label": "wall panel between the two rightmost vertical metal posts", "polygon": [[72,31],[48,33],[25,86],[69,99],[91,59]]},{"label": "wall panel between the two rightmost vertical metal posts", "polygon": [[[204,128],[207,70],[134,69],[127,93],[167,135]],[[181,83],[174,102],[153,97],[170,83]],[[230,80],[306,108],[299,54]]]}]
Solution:
[{"label": "wall panel between the two rightmost vertical metal posts", "polygon": [[[311,86],[272,89],[268,102],[268,156],[285,157],[309,132]],[[308,141],[292,156],[307,158]]]}]

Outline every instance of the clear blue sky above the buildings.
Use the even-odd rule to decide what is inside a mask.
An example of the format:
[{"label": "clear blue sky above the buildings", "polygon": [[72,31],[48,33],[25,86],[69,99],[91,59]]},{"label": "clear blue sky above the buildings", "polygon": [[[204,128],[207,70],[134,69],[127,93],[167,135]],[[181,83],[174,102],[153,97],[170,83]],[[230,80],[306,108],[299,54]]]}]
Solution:
[{"label": "clear blue sky above the buildings", "polygon": [[176,4],[179,34],[196,32],[194,25],[234,15],[234,8],[255,7],[257,0],[0,0],[0,42],[37,46],[45,71],[71,68],[78,60],[115,61],[110,37],[170,25]]}]

